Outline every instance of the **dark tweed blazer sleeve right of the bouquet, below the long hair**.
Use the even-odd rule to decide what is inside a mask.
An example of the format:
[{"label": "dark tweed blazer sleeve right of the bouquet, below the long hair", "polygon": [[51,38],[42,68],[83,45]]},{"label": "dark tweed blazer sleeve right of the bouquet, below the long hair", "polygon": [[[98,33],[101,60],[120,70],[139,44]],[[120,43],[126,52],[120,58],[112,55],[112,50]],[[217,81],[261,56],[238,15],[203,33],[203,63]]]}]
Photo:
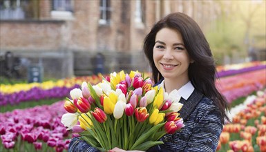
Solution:
[{"label": "dark tweed blazer sleeve right of the bouquet, below the long hair", "polygon": [[197,121],[184,151],[216,151],[222,133],[221,114],[213,105],[208,110],[202,108],[198,115],[203,116]]}]

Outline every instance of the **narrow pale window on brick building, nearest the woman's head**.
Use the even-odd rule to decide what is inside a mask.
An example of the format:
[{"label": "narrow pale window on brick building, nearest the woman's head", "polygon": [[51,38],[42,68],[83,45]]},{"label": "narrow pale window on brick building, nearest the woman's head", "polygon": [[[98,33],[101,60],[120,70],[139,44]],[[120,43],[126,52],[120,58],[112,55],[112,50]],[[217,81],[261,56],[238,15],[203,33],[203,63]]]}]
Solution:
[{"label": "narrow pale window on brick building, nearest the woman's head", "polygon": [[145,22],[145,1],[142,0],[135,1],[135,22],[136,23]]}]

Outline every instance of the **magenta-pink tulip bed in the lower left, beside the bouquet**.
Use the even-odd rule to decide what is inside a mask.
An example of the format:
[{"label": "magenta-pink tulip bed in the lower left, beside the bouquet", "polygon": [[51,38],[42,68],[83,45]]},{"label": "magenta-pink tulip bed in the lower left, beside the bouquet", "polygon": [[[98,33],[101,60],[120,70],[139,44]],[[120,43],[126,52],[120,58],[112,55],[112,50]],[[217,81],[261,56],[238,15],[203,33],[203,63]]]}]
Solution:
[{"label": "magenta-pink tulip bed in the lower left, beside the bouquet", "polygon": [[1,142],[6,149],[15,148],[15,142],[21,140],[24,144],[33,144],[35,149],[46,146],[56,151],[67,150],[70,137],[69,132],[61,124],[61,116],[64,113],[66,111],[63,101],[50,106],[35,106],[0,113]]}]

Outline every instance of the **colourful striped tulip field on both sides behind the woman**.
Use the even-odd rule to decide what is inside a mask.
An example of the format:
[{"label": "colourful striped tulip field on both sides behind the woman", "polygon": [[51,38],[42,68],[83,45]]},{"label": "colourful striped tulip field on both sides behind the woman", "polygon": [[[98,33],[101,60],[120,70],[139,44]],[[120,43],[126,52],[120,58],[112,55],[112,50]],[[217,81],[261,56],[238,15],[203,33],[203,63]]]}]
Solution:
[{"label": "colourful striped tulip field on both sides behind the woman", "polygon": [[[266,151],[266,62],[217,67],[218,90],[231,106],[217,151]],[[148,74],[149,75],[149,74]],[[76,133],[61,124],[64,99],[102,75],[0,86],[0,151],[67,151]]]}]

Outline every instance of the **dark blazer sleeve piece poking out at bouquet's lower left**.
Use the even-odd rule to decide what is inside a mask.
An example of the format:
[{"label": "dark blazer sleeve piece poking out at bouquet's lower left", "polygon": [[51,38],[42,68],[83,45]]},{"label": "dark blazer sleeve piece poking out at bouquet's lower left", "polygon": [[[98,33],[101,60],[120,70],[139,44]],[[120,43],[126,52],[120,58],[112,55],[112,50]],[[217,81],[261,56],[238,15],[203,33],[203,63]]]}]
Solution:
[{"label": "dark blazer sleeve piece poking out at bouquet's lower left", "polygon": [[68,146],[69,152],[98,152],[97,149],[95,149],[93,146],[89,145],[84,140],[79,139],[79,137],[74,137]]}]

